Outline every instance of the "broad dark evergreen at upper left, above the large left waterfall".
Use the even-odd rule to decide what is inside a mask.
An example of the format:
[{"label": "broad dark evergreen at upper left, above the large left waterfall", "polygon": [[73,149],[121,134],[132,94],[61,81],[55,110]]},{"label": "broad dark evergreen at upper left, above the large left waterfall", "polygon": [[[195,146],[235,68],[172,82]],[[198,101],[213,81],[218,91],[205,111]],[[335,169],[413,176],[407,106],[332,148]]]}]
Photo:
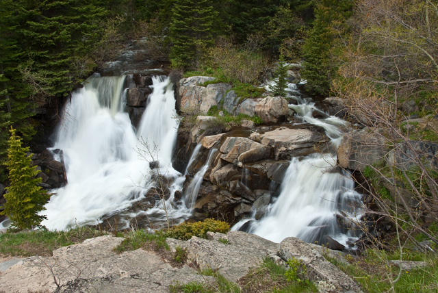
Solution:
[{"label": "broad dark evergreen at upper left, above the large left waterfall", "polygon": [[99,20],[105,9],[86,0],[39,0],[22,5],[19,44],[28,56],[24,79],[34,95],[65,95],[95,66],[87,57],[103,33]]}]

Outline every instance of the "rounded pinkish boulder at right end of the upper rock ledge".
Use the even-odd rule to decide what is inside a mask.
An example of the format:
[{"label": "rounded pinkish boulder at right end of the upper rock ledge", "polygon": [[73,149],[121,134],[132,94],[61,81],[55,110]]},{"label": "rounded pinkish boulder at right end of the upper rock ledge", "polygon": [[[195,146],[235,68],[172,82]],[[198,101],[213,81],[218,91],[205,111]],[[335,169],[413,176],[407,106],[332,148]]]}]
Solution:
[{"label": "rounded pinkish boulder at right end of the upper rock ledge", "polygon": [[277,123],[280,118],[287,115],[286,99],[282,97],[266,97],[255,105],[255,114],[257,114],[264,123]]}]

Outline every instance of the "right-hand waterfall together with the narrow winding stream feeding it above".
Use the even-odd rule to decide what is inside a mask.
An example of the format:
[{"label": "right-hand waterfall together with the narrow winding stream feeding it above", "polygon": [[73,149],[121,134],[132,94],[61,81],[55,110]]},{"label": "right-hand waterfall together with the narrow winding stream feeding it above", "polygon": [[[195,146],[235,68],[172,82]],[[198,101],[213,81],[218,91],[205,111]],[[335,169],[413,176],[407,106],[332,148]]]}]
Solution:
[{"label": "right-hand waterfall together with the narrow winding stream feeding it above", "polygon": [[[298,105],[289,105],[297,116],[324,128],[331,144],[339,146],[343,136],[339,126],[346,125],[345,121],[334,116],[313,118],[313,111],[320,112],[315,104],[292,96],[297,94],[295,85],[289,85],[288,93],[289,98],[298,101]],[[362,204],[361,194],[353,188],[350,175],[336,170],[335,155],[316,153],[300,159],[294,157],[281,183],[279,197],[269,205],[266,216],[259,221],[252,219],[248,231],[274,242],[295,236],[324,244],[325,235],[342,244],[354,242],[357,235],[352,222],[360,217]],[[240,229],[247,221],[237,223],[233,230]]]}]

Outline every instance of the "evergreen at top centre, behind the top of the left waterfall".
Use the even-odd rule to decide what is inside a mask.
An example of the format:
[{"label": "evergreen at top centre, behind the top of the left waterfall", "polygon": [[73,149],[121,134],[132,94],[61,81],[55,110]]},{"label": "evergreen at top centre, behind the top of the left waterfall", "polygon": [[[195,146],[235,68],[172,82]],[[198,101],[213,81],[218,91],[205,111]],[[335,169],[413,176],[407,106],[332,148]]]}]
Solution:
[{"label": "evergreen at top centre, behind the top of the left waterfall", "polygon": [[217,12],[211,0],[175,1],[170,23],[170,61],[177,68],[196,68],[203,49],[213,44]]}]

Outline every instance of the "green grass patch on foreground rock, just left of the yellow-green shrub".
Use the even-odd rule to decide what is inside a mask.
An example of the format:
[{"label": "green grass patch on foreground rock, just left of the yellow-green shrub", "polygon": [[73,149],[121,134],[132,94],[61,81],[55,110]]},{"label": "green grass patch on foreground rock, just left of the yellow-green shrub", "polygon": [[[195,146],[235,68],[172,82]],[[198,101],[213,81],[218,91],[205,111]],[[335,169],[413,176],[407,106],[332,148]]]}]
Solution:
[{"label": "green grass patch on foreground rock, just left of the yellow-green shrub", "polygon": [[144,229],[138,229],[135,231],[129,231],[125,236],[125,239],[116,247],[116,251],[135,251],[145,245],[151,245],[154,249],[166,249],[169,250],[169,246],[166,243],[166,235],[157,231],[156,233],[147,233]]}]

